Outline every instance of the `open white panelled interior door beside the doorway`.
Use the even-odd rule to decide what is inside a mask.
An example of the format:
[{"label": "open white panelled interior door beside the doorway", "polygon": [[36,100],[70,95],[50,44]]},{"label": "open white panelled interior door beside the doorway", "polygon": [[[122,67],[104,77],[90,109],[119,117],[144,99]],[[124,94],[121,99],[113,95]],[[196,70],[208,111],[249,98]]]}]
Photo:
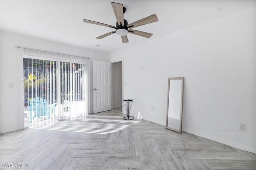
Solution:
[{"label": "open white panelled interior door beside the doorway", "polygon": [[93,61],[93,113],[111,109],[110,63]]}]

